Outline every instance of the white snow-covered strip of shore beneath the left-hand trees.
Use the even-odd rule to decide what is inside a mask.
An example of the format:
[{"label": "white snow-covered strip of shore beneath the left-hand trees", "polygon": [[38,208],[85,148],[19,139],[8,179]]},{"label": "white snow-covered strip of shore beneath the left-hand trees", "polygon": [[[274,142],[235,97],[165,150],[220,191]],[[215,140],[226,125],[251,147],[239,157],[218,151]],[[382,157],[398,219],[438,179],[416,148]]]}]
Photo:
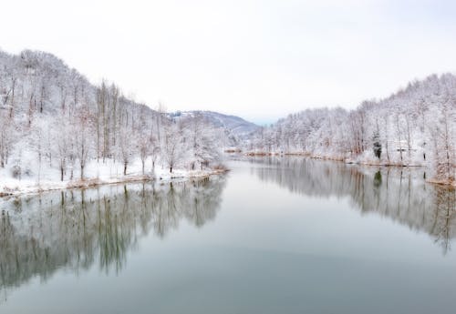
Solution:
[{"label": "white snow-covered strip of shore beneath the left-hand trees", "polygon": [[59,180],[57,169],[45,167],[41,169],[38,177],[12,177],[8,172],[10,169],[0,169],[0,197],[16,196],[23,194],[34,194],[45,191],[52,191],[66,188],[96,187],[108,184],[139,182],[148,180],[174,180],[186,179],[191,177],[207,177],[211,175],[220,175],[226,172],[223,168],[204,168],[204,169],[170,169],[157,165],[153,171],[150,165],[146,167],[142,174],[140,160],[135,160],[128,167],[127,175],[123,175],[123,165],[119,162],[108,160],[103,162],[90,162],[85,171],[86,175],[83,180],[80,179],[78,170],[75,169],[73,179]]}]

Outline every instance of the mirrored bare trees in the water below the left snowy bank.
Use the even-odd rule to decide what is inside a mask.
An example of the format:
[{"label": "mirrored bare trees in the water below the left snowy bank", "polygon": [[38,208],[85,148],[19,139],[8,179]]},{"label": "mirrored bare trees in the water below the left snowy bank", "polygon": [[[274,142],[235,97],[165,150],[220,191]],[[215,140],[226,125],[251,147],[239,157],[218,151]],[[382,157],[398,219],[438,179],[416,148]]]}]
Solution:
[{"label": "mirrored bare trees in the water below the left snowy bank", "polygon": [[0,290],[59,268],[119,272],[142,235],[160,238],[181,219],[197,228],[215,218],[223,177],[132,184],[2,199]]}]

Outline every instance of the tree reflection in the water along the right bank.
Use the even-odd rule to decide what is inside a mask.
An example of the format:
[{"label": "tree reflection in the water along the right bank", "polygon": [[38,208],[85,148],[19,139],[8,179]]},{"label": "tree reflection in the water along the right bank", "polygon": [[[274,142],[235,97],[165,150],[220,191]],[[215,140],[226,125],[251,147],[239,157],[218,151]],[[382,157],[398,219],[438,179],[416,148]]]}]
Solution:
[{"label": "tree reflection in the water along the right bank", "polygon": [[252,158],[252,171],[294,193],[350,198],[363,214],[377,213],[410,229],[424,231],[445,254],[456,238],[456,191],[427,184],[424,170],[358,167],[302,157]]}]

